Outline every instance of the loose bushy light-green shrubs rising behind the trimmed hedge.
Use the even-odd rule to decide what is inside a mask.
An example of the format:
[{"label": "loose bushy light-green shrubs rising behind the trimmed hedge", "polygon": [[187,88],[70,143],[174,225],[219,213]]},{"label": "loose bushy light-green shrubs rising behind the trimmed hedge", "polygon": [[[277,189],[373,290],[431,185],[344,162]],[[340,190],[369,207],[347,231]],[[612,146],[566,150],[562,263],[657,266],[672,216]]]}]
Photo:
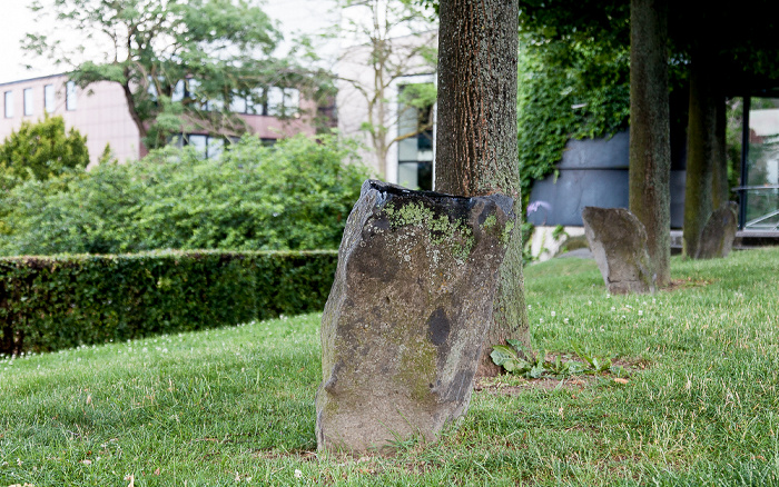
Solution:
[{"label": "loose bushy light-green shrubs rising behind the trimmed hedge", "polygon": [[216,160],[166,148],[17,187],[0,255],[335,249],[367,177],[335,136],[247,136]]}]

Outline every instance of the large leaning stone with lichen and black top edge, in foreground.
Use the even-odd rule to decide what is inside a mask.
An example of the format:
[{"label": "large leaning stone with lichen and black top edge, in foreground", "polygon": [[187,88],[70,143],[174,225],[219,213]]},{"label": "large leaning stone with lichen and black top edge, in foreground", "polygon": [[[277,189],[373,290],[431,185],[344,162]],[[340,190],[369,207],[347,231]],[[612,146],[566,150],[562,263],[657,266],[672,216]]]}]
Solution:
[{"label": "large leaning stone with lichen and black top edge, in foreground", "polygon": [[365,181],[322,318],[319,449],[434,441],[465,413],[512,206]]}]

